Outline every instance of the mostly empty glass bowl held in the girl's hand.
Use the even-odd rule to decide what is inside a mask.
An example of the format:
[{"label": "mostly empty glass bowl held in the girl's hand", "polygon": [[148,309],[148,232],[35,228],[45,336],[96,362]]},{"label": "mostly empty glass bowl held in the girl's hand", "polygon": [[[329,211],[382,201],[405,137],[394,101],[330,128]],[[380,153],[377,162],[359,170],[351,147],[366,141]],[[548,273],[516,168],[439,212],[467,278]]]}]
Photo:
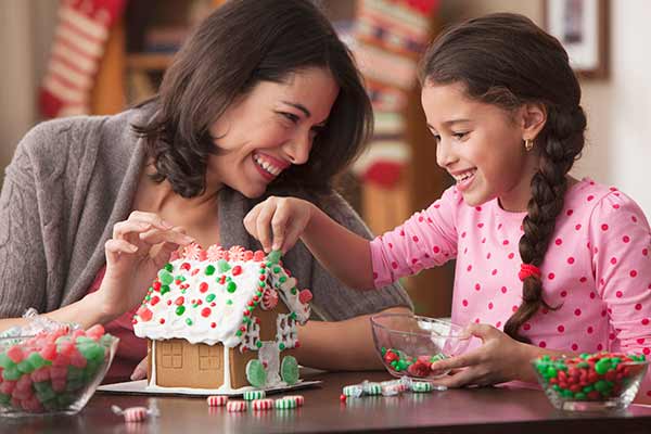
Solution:
[{"label": "mostly empty glass bowl held in the girl's hand", "polygon": [[448,371],[433,372],[432,362],[468,349],[470,335],[461,326],[413,314],[379,314],[371,317],[375,349],[394,376],[433,380]]}]

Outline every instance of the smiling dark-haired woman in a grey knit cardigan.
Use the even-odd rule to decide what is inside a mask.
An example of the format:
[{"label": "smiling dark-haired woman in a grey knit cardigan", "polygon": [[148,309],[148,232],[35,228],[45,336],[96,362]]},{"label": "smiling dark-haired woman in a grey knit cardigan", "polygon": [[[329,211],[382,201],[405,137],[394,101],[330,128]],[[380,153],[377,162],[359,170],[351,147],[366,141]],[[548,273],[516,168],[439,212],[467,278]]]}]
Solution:
[{"label": "smiling dark-haired woman in a grey knit cardigan", "polygon": [[[242,219],[265,195],[305,197],[369,237],[331,181],[370,123],[350,55],[310,2],[228,2],[189,38],[152,101],[49,122],[21,142],[0,199],[0,330],[28,307],[104,323],[123,342],[107,381],[124,380],[145,355],[130,319],[156,270],[193,241],[259,248]],[[283,260],[323,320],[301,330],[299,361],[378,366],[368,315],[409,308],[405,292],[356,293],[302,245]]]}]

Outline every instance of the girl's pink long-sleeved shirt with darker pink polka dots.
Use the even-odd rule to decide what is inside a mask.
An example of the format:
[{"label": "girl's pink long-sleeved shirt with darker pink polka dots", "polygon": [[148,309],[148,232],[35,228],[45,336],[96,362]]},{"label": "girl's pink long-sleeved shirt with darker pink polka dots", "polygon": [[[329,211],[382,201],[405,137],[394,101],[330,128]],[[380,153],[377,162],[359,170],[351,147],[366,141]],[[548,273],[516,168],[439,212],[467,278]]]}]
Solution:
[{"label": "girl's pink long-sleeved shirt with darker pink polka dots", "polygon": [[[518,251],[526,213],[498,201],[465,205],[455,187],[427,209],[371,242],[381,288],[457,259],[452,321],[503,329],[521,303]],[[540,309],[521,333],[542,348],[651,354],[651,231],[639,206],[589,179],[573,186],[557,219],[542,272]],[[642,392],[651,396],[651,371]]]}]

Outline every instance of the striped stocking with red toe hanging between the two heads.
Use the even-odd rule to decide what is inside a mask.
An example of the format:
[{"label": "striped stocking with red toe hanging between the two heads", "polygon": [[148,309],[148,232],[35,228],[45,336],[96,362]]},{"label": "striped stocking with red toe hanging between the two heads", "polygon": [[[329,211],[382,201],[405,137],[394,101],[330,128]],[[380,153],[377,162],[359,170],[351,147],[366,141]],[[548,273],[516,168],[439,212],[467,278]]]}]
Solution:
[{"label": "striped stocking with red toe hanging between the two heads", "polygon": [[360,0],[355,58],[373,104],[375,130],[353,170],[362,180],[393,188],[409,159],[404,141],[407,92],[430,36],[437,0]]}]

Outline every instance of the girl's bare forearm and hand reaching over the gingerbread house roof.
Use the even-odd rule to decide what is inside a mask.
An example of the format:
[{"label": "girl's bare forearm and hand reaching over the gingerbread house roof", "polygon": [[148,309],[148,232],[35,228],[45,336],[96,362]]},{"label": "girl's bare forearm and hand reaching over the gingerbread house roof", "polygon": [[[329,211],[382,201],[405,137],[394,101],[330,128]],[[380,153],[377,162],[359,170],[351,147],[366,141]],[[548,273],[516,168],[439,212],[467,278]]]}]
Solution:
[{"label": "girl's bare forearm and hand reaching over the gingerbread house roof", "polygon": [[341,226],[310,202],[271,196],[244,218],[246,230],[265,252],[294,246],[298,239],[335,278],[355,289],[371,289],[369,241]]}]

